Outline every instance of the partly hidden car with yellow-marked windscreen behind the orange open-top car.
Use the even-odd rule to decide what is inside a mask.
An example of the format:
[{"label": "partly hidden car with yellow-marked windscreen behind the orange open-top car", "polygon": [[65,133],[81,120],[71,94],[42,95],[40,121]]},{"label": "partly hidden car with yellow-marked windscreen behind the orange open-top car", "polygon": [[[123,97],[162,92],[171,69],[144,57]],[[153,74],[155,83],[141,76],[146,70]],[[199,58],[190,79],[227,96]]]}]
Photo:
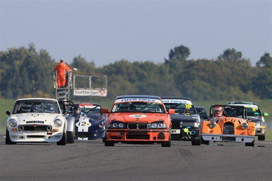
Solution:
[{"label": "partly hidden car with yellow-marked windscreen behind the orange open-top car", "polygon": [[264,117],[268,116],[265,112],[262,114],[260,108],[256,103],[252,102],[229,102],[226,105],[237,105],[237,106],[244,106],[246,108],[246,116],[249,121],[255,123],[256,133],[255,135],[258,136],[258,140],[265,140],[265,119]]}]

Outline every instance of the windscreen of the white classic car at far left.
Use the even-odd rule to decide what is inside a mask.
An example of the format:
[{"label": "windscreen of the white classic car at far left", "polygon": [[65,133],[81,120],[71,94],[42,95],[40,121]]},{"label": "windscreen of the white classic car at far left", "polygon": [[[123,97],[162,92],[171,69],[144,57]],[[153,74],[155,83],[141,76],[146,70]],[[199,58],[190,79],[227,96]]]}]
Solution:
[{"label": "windscreen of the white classic car at far left", "polygon": [[60,114],[57,103],[53,100],[17,100],[12,111],[13,114],[20,113],[56,113]]}]

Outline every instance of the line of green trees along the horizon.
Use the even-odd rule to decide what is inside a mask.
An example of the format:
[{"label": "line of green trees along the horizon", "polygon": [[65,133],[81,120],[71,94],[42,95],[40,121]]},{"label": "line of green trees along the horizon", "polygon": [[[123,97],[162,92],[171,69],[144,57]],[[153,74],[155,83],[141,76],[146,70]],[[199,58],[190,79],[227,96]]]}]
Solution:
[{"label": "line of green trees along the horizon", "polygon": [[[190,49],[181,45],[170,49],[162,63],[121,59],[96,67],[93,61],[79,55],[69,66],[80,72],[107,74],[110,99],[128,94],[186,96],[195,100],[272,99],[269,53],[264,53],[254,66],[233,48],[224,50],[216,59],[188,59],[189,55]],[[0,51],[0,60],[1,97],[54,97],[56,61],[48,51],[37,51],[34,44],[29,44]]]}]

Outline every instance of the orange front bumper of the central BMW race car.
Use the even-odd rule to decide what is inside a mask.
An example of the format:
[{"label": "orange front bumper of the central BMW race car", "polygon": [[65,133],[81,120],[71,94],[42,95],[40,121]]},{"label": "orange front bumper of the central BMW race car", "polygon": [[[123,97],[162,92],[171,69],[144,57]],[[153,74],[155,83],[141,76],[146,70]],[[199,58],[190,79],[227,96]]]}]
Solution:
[{"label": "orange front bumper of the central BMW race car", "polygon": [[106,138],[112,142],[168,142],[170,130],[127,130],[127,129],[106,129]]}]

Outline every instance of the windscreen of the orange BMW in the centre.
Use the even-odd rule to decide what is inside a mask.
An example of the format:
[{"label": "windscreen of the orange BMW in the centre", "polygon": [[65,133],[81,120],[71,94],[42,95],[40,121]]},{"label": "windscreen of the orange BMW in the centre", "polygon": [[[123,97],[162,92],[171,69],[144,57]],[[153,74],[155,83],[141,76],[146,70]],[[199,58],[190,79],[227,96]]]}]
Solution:
[{"label": "windscreen of the orange BMW in the centre", "polygon": [[165,113],[165,109],[154,102],[122,102],[114,104],[111,112]]}]

